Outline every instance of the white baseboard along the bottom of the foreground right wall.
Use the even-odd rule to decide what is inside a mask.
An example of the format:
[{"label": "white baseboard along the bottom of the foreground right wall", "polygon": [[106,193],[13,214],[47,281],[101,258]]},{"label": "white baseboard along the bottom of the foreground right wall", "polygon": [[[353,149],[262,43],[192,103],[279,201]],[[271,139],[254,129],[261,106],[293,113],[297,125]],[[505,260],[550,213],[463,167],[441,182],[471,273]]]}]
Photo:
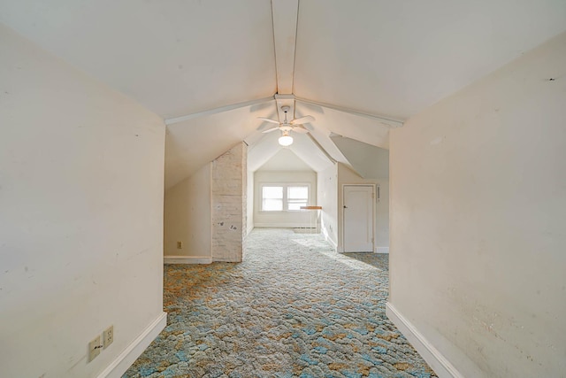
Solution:
[{"label": "white baseboard along the bottom of the foreground right wall", "polygon": [[394,325],[399,328],[403,336],[418,351],[423,359],[432,367],[439,378],[463,378],[463,375],[438,351],[432,343],[429,343],[417,328],[407,320],[394,305],[386,303],[386,315]]}]

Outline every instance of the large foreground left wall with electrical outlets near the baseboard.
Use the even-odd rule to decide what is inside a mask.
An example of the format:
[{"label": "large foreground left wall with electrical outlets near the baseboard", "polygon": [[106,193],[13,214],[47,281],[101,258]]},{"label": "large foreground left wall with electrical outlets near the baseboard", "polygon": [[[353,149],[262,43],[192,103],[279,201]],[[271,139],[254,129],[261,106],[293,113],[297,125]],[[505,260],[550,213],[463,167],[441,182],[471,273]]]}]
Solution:
[{"label": "large foreground left wall with electrical outlets near the baseboard", "polygon": [[1,374],[95,376],[163,315],[164,124],[2,26],[0,50]]}]

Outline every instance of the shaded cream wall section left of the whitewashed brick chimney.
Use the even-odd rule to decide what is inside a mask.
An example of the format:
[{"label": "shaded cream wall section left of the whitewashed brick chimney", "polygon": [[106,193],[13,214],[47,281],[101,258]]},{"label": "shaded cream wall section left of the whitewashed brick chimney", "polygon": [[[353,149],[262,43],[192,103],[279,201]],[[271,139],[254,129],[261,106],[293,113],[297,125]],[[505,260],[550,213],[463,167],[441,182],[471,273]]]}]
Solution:
[{"label": "shaded cream wall section left of the whitewashed brick chimney", "polygon": [[210,163],[167,190],[164,207],[165,256],[210,258]]}]

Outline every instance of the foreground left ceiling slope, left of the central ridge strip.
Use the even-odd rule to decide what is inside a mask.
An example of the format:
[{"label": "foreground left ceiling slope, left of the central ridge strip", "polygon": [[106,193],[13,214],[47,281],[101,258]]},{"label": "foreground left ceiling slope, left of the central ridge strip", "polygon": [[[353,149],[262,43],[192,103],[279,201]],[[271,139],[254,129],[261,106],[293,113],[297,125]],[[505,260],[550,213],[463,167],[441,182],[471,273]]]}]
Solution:
[{"label": "foreground left ceiling slope, left of the central ridge strip", "polygon": [[164,119],[276,91],[269,0],[1,0],[0,22]]}]

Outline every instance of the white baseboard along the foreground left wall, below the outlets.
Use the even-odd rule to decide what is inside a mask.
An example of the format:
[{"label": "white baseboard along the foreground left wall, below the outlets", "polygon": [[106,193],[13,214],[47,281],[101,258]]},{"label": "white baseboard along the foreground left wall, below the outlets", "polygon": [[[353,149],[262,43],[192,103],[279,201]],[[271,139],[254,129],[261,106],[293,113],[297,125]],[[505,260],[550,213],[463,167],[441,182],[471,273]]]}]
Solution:
[{"label": "white baseboard along the foreground left wall, below the outlets", "polygon": [[97,378],[120,378],[166,325],[167,312],[161,312],[157,319],[153,320],[149,326],[143,330],[142,335],[138,336],[134,342],[129,344],[101,374],[98,374]]}]

